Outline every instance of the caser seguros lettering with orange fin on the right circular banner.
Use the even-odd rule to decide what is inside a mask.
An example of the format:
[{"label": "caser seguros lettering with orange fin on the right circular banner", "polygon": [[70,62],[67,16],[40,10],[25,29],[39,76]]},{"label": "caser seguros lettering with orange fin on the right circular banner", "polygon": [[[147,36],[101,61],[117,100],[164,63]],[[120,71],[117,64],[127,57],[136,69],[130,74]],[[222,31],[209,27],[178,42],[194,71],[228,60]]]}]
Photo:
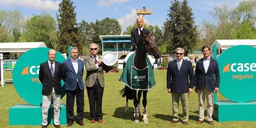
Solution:
[{"label": "caser seguros lettering with orange fin on the right circular banner", "polygon": [[[256,72],[256,63],[233,63],[233,64],[227,64],[222,73],[225,72]],[[250,73],[249,72],[249,73]],[[232,75],[232,79],[238,79],[239,81],[241,79],[253,79],[253,74],[247,74],[247,75]]]}]

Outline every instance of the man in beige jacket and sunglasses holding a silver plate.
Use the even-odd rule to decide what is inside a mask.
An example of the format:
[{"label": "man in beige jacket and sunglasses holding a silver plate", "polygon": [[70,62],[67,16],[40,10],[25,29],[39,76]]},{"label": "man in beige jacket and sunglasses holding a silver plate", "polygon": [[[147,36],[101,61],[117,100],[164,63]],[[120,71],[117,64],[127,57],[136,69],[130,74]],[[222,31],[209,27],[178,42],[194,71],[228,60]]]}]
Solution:
[{"label": "man in beige jacket and sunglasses holding a silver plate", "polygon": [[[87,70],[85,86],[90,104],[90,123],[94,123],[98,119],[102,123],[102,96],[104,90],[103,70],[106,72],[113,69],[113,66],[107,66],[97,55],[99,47],[95,43],[90,44],[91,55],[84,58],[84,65]],[[96,102],[96,106],[95,106]]]}]

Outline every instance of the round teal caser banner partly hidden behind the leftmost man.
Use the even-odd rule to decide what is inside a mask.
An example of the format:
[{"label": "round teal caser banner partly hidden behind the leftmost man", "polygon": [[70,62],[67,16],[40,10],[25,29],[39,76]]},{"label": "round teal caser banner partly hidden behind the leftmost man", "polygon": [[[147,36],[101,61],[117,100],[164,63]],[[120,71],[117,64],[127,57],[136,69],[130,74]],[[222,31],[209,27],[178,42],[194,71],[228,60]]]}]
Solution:
[{"label": "round teal caser banner partly hidden behind the leftmost man", "polygon": [[[22,99],[32,105],[42,103],[42,84],[38,79],[40,64],[49,60],[49,48],[41,47],[30,49],[17,60],[13,69],[13,84]],[[62,63],[65,58],[56,51],[55,61]],[[65,95],[64,82],[61,81],[62,94]]]}]

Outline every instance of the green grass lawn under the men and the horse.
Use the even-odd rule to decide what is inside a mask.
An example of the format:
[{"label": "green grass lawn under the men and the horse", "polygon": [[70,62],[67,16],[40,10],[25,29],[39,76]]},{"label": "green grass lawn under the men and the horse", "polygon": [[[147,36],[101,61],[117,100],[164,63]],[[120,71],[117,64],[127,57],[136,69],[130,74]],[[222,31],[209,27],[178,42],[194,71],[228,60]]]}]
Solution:
[{"label": "green grass lawn under the men and the horse", "polygon": [[[122,70],[121,70],[122,72]],[[133,102],[129,101],[130,113],[125,113],[125,98],[119,95],[119,90],[121,90],[124,85],[118,81],[119,73],[107,73],[105,74],[105,89],[102,102],[103,111],[103,123],[90,124],[90,111],[89,102],[87,97],[87,92],[84,91],[84,127],[89,128],[167,128],[167,127],[177,127],[181,128],[184,125],[181,122],[171,125],[172,121],[172,99],[171,94],[167,92],[166,89],[166,70],[154,70],[156,85],[153,89],[148,91],[148,124],[142,122],[142,117],[140,116],[140,122],[138,124],[134,123],[133,117]],[[5,72],[6,79],[12,79],[11,73]],[[85,78],[84,74],[84,78]],[[218,93],[218,100],[225,99]],[[61,99],[61,102],[66,102],[66,96]],[[5,87],[0,87],[0,128],[41,128],[41,125],[9,125],[9,108],[17,105],[26,103],[15,91],[13,84],[5,84]],[[76,106],[76,105],[75,105]],[[76,115],[76,107],[75,115]],[[141,108],[142,105],[141,105]],[[182,106],[180,105],[179,113],[182,113]],[[245,113],[246,114],[246,113]],[[227,115],[228,116],[228,115]],[[22,116],[20,116],[22,118]],[[206,117],[205,117],[206,119]],[[196,125],[198,121],[198,96],[193,90],[192,94],[189,95],[189,125],[190,127],[199,127]],[[217,122],[213,121],[213,127],[220,128],[252,128],[256,127],[256,122]],[[61,127],[66,127],[66,125],[61,125]],[[204,122],[200,127],[212,127]],[[48,128],[54,128],[53,125],[48,125]],[[81,128],[77,123],[74,123],[72,128]]]}]

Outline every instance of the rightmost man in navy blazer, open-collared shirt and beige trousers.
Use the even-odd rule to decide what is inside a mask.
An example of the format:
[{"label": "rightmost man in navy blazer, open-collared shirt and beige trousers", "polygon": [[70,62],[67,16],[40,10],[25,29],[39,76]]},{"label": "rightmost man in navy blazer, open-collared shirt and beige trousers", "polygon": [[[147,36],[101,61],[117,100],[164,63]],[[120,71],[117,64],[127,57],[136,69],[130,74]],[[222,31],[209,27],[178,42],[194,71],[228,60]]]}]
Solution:
[{"label": "rightmost man in navy blazer, open-collared shirt and beige trousers", "polygon": [[195,92],[198,93],[199,102],[199,121],[198,125],[204,121],[204,100],[207,100],[207,121],[209,125],[213,125],[213,91],[218,92],[220,85],[220,73],[218,62],[210,57],[210,48],[202,47],[204,58],[197,61],[195,66]]}]

